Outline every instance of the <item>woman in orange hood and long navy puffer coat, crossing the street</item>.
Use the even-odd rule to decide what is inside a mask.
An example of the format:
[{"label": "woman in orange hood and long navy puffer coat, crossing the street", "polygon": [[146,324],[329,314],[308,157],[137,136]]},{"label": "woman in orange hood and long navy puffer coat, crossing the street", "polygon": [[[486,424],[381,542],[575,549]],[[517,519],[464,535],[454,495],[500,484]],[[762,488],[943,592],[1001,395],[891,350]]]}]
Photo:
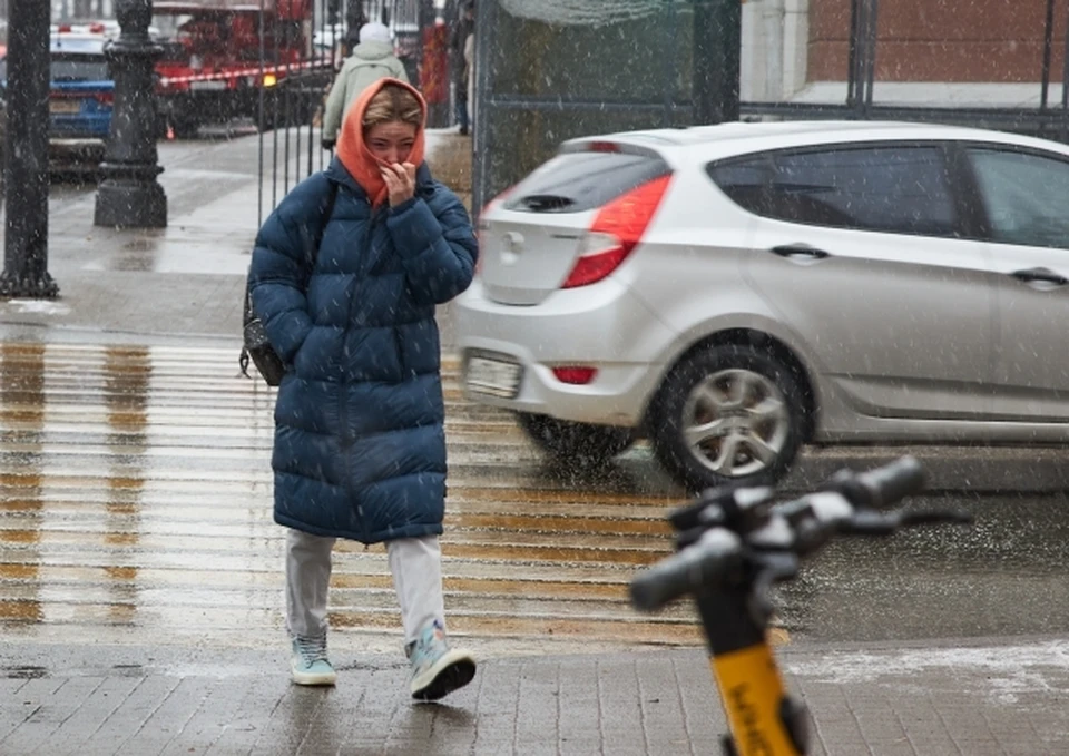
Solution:
[{"label": "woman in orange hood and long navy puffer coat, crossing the street", "polygon": [[370,86],[345,116],[330,167],[294,187],[259,229],[249,276],[253,308],[287,364],[272,468],[275,522],[290,529],[292,678],[336,679],[326,655],[335,539],[385,542],[412,696],[434,700],[475,674],[445,636],[434,307],[471,283],[478,244],[460,199],[423,161],[425,118],[408,84]]}]

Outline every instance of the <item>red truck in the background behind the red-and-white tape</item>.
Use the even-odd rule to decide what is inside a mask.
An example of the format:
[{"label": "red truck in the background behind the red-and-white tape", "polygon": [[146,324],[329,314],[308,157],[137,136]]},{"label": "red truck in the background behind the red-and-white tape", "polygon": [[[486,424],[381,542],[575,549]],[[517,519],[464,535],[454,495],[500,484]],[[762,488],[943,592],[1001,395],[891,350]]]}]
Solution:
[{"label": "red truck in the background behind the red-and-white tape", "polygon": [[234,118],[262,129],[308,122],[334,76],[332,57],[312,46],[315,2],[157,0],[161,126],[180,137]]}]

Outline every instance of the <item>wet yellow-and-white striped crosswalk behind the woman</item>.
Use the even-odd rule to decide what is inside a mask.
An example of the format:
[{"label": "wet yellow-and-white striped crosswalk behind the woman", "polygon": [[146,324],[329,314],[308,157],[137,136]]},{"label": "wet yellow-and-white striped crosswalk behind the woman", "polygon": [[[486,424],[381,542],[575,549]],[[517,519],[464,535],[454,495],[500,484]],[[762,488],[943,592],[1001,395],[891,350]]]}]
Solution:
[{"label": "wet yellow-and-white striped crosswalk behind the woman", "polygon": [[[634,571],[670,550],[663,518],[678,502],[648,461],[543,465],[457,380],[443,539],[455,631],[699,644],[688,607],[647,618],[627,602]],[[112,628],[148,642],[282,634],[273,397],[235,379],[232,350],[0,344],[0,624],[77,642]],[[384,549],[342,543],[334,564],[336,626],[400,635]]]}]

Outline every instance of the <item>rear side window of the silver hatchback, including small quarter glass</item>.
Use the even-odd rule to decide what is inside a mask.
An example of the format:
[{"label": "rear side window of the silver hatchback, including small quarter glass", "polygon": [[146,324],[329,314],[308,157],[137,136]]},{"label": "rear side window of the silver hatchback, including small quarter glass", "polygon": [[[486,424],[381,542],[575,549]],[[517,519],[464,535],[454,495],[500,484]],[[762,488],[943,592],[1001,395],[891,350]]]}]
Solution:
[{"label": "rear side window of the silver hatchback, including small quarter glass", "polygon": [[743,208],[793,223],[954,236],[958,214],[939,145],[774,151],[708,167]]}]

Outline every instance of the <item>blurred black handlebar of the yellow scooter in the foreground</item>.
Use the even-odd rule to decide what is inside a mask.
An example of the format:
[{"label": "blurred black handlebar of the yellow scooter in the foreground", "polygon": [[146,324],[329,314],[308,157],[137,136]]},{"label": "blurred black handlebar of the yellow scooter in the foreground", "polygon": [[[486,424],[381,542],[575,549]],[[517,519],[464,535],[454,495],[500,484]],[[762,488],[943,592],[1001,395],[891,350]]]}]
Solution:
[{"label": "blurred black handlebar of the yellow scooter in the foreground", "polygon": [[[699,524],[681,533],[676,553],[631,580],[631,602],[656,611],[698,588],[744,580],[763,595],[766,583],[793,578],[791,566],[835,536],[890,536],[904,527],[972,521],[953,510],[873,509],[918,493],[924,478],[921,464],[903,456],[869,472],[841,471],[814,493],[778,504],[771,502],[767,489],[707,492],[702,501],[712,503],[689,504],[669,516],[677,527]],[[680,512],[686,517],[680,519]]]}]

